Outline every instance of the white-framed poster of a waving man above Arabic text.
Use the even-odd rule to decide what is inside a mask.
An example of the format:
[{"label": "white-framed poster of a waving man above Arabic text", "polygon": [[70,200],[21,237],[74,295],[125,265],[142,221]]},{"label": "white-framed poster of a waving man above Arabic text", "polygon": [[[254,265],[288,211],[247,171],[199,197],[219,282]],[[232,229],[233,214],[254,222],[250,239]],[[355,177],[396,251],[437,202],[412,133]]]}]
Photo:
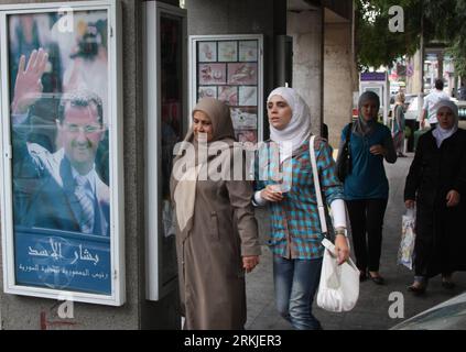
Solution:
[{"label": "white-framed poster of a waving man above Arabic text", "polygon": [[7,294],[124,304],[120,7],[0,6]]}]

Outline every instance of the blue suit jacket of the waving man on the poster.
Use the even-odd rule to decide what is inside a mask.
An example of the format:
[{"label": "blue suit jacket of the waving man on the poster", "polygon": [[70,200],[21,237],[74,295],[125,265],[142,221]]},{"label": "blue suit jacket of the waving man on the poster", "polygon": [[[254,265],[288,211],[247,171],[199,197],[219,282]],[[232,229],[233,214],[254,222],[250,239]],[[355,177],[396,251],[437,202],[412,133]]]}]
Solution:
[{"label": "blue suit jacket of the waving man on the poster", "polygon": [[[14,224],[80,232],[80,205],[64,150],[35,143],[14,150]],[[96,174],[94,234],[109,235],[109,187]]]}]

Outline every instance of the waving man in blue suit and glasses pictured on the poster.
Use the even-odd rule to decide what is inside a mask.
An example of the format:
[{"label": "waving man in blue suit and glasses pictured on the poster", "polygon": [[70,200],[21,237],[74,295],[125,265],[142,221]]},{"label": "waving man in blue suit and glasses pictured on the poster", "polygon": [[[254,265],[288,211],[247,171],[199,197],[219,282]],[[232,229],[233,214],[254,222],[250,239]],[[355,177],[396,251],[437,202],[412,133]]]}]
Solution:
[{"label": "waving man in blue suit and glasses pictured on the poster", "polygon": [[[108,237],[109,187],[96,172],[96,153],[105,138],[101,99],[79,90],[62,96],[56,129],[57,151],[28,141],[28,111],[41,97],[47,54],[22,56],[14,87],[14,224]],[[53,112],[51,112],[53,113]]]}]

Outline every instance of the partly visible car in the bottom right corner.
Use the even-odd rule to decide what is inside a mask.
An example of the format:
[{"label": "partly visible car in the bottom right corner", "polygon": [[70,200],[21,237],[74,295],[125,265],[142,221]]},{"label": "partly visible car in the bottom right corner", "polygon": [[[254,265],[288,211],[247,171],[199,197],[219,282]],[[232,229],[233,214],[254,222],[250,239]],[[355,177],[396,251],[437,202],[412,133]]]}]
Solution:
[{"label": "partly visible car in the bottom right corner", "polygon": [[390,330],[466,330],[466,293],[427,309]]}]

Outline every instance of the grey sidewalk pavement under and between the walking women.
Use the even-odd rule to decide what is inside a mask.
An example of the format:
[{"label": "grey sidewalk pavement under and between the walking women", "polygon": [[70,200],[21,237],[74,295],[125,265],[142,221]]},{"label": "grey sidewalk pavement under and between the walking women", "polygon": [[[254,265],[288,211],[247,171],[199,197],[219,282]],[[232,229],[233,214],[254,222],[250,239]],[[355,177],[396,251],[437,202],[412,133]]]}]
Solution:
[{"label": "grey sidewalk pavement under and between the walking women", "polygon": [[[313,312],[327,330],[386,330],[397,323],[418,315],[446,299],[466,290],[466,273],[456,273],[454,280],[457,284],[453,290],[441,286],[440,276],[434,277],[429,285],[424,297],[415,297],[407,290],[412,283],[413,272],[397,264],[398,246],[401,235],[401,217],[405,211],[403,202],[404,180],[412,162],[409,157],[398,158],[394,165],[386,164],[387,176],[390,183],[390,196],[383,227],[382,256],[380,274],[386,278],[384,286],[378,286],[371,280],[360,285],[359,300],[356,307],[344,314],[334,314],[318,308],[314,302]],[[267,233],[267,215],[258,211],[261,233]],[[265,240],[262,239],[264,244]],[[248,330],[291,330],[288,321],[282,319],[275,309],[272,276],[272,256],[269,249],[262,246],[261,262],[258,267],[247,275],[248,299]],[[391,293],[401,293],[404,301],[404,317],[390,318],[389,307],[393,304]],[[397,300],[400,304],[401,300]],[[397,311],[397,310],[395,310]],[[398,310],[399,311],[399,310]]]}]

